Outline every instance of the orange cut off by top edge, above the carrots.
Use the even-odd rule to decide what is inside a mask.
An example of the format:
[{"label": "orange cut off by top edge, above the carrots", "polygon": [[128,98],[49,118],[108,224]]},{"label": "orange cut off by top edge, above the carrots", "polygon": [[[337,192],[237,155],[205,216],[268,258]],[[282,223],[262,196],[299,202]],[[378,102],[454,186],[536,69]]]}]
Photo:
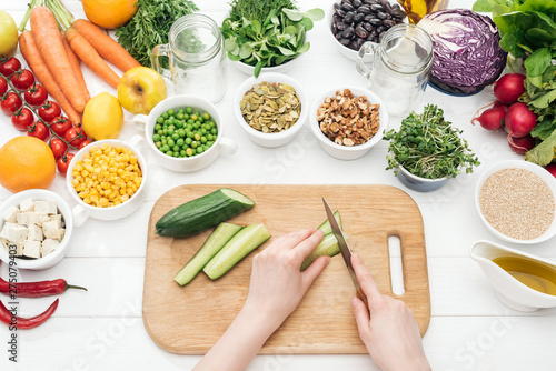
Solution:
[{"label": "orange cut off by top edge, above the carrots", "polygon": [[137,0],[82,0],[85,14],[105,29],[126,24],[137,12]]}]

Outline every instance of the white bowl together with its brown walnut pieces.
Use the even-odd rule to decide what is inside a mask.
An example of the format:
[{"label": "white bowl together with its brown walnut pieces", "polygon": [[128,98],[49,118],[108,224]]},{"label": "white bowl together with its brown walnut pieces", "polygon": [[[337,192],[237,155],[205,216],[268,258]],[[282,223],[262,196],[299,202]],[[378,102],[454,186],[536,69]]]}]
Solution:
[{"label": "white bowl together with its brown walnut pieces", "polygon": [[309,124],[328,154],[355,160],[383,139],[388,112],[380,98],[367,89],[331,89],[312,103]]}]

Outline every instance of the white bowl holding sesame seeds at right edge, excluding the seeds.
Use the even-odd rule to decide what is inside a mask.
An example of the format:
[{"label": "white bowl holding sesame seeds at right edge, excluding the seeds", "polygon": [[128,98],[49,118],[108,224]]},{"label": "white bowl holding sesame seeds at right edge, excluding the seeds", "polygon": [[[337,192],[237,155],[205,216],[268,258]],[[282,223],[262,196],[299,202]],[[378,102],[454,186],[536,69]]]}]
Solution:
[{"label": "white bowl holding sesame seeds at right edge, excluding the seeds", "polygon": [[533,243],[539,243],[543,241],[546,241],[550,238],[553,238],[556,234],[556,218],[554,218],[550,227],[546,232],[544,232],[542,235],[537,237],[536,239],[533,240],[517,240],[510,237],[507,237],[500,232],[498,232],[496,229],[494,229],[488,221],[485,219],[483,215],[483,212],[480,211],[480,203],[479,203],[479,194],[480,194],[480,189],[483,188],[483,184],[485,181],[494,174],[495,172],[503,170],[503,169],[525,169],[528,170],[536,176],[538,176],[540,179],[543,179],[550,191],[553,192],[553,197],[556,200],[556,178],[554,178],[548,171],[546,171],[544,168],[528,161],[523,161],[523,160],[512,160],[512,161],[504,161],[500,163],[495,164],[494,167],[487,169],[483,176],[479,178],[477,182],[477,187],[475,188],[475,207],[477,209],[477,212],[480,215],[480,219],[487,227],[487,229],[497,238],[500,240],[507,241],[507,242],[513,242],[513,243],[520,243],[520,244],[533,244]]}]

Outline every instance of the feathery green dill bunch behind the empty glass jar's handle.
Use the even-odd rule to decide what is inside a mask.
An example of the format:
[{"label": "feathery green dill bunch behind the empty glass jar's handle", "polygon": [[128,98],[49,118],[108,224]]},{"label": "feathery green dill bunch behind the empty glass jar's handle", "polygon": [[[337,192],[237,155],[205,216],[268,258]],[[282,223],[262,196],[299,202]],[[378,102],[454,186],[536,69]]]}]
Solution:
[{"label": "feathery green dill bunch behind the empty glass jar's handle", "polygon": [[138,0],[136,4],[139,7],[136,14],[116,30],[116,37],[139,63],[151,67],[152,48],[168,43],[173,22],[199,8],[191,0]]}]

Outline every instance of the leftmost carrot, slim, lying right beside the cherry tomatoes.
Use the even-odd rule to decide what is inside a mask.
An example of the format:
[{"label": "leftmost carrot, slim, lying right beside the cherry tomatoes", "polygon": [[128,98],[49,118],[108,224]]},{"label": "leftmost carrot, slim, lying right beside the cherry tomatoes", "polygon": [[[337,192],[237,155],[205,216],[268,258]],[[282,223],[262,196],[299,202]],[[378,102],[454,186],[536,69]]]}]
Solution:
[{"label": "leftmost carrot, slim, lying right beside the cherry tomatoes", "polygon": [[23,54],[23,58],[37,77],[37,80],[42,83],[50,97],[52,97],[52,99],[60,104],[70,121],[76,126],[81,124],[81,116],[73,109],[70,102],[66,99],[66,96],[63,96],[60,87],[56,83],[54,78],[48,70],[47,63],[39,52],[39,48],[37,48],[37,44],[34,43],[33,34],[31,31],[24,31],[20,34],[19,49],[21,50],[21,54]]}]

